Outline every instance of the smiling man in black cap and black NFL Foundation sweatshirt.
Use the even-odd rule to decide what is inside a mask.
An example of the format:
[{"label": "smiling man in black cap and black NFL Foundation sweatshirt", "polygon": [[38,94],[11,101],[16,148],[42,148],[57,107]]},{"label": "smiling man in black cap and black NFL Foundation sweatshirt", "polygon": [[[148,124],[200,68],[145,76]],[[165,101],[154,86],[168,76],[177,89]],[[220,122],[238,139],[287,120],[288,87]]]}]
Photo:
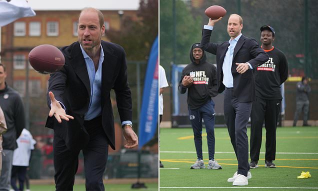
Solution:
[{"label": "smiling man in black cap and black NFL Foundation sweatshirt", "polygon": [[264,120],[265,167],[275,167],[272,160],[276,155],[276,128],[282,99],[280,85],[287,79],[288,63],[284,53],[272,45],[274,39],[274,28],[268,25],[260,27],[261,48],[267,52],[269,59],[254,71],[256,100],[250,113],[250,168],[258,167]]}]

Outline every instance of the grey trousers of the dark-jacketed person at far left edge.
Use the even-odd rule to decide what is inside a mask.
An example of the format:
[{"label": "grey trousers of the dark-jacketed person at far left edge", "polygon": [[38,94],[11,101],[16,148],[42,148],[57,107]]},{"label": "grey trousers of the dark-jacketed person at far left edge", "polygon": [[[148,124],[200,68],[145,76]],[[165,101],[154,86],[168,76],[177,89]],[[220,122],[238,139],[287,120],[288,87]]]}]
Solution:
[{"label": "grey trousers of the dark-jacketed person at far left edge", "polygon": [[13,150],[3,149],[2,170],[0,176],[0,191],[9,191],[11,180],[11,169],[13,160]]}]

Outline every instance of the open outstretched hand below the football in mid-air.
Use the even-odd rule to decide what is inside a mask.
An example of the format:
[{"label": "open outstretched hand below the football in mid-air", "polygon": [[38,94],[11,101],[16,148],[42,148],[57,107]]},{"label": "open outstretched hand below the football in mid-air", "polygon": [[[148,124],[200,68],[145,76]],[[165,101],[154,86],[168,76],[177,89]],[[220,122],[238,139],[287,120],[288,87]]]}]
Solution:
[{"label": "open outstretched hand below the football in mid-air", "polygon": [[49,110],[48,116],[53,116],[56,120],[61,123],[62,119],[68,121],[69,119],[74,119],[73,116],[70,116],[65,113],[65,110],[62,108],[60,103],[55,99],[52,91],[48,92],[49,98],[51,99],[51,110]]}]

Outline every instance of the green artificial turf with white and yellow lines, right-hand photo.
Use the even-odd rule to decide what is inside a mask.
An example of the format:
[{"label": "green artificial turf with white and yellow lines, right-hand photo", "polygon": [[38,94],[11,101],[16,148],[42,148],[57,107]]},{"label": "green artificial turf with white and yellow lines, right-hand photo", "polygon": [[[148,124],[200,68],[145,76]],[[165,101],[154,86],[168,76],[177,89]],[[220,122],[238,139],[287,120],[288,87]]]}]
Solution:
[{"label": "green artificial turf with white and yellow lines, right-hand photo", "polygon": [[[250,128],[247,128],[249,137]],[[206,133],[203,129],[203,160],[207,166]],[[264,167],[265,129],[263,128],[259,167],[251,169],[246,186],[227,182],[237,170],[237,160],[226,128],[215,128],[215,160],[223,169],[190,169],[196,160],[191,128],[160,129],[160,190],[318,190],[318,127],[278,127],[276,168]],[[229,152],[229,153],[227,153]],[[310,178],[297,179],[301,171]],[[248,188],[249,187],[249,188]]]}]

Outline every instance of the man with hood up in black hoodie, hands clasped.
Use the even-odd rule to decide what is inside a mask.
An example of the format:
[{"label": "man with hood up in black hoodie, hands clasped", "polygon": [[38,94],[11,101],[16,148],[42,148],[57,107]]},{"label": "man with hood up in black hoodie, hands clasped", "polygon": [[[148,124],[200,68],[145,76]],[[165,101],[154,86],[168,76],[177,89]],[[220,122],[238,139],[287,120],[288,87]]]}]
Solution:
[{"label": "man with hood up in black hoodie, hands clasped", "polygon": [[191,63],[182,71],[179,83],[180,93],[187,91],[187,104],[189,119],[191,121],[194,145],[197,160],[191,165],[191,169],[205,168],[202,157],[202,118],[204,119],[207,147],[208,169],[221,169],[222,167],[214,160],[214,102],[211,97],[217,95],[216,67],[206,61],[206,55],[200,43],[194,43],[190,49]]}]

